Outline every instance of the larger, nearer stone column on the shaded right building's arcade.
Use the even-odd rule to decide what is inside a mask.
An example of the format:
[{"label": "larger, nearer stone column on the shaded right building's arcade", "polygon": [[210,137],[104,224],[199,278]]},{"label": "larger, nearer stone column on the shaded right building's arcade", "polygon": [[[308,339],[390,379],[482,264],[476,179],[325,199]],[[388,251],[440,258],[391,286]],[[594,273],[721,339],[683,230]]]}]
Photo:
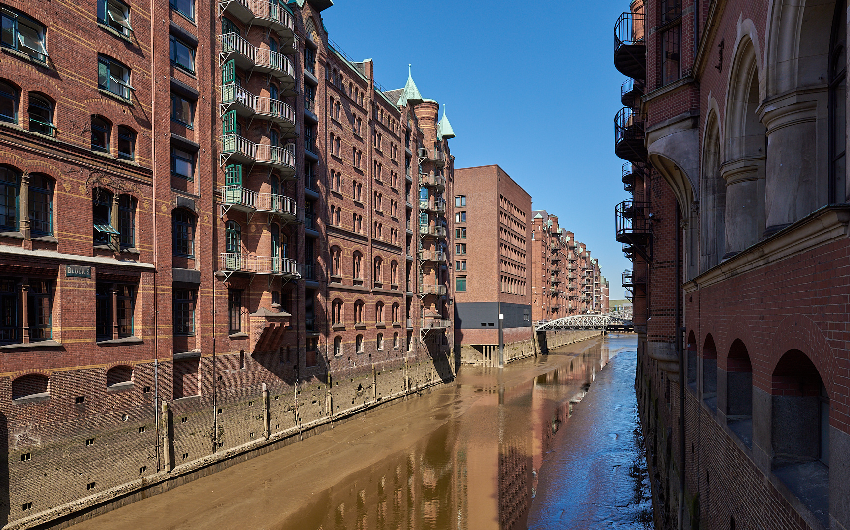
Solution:
[{"label": "larger, nearer stone column on the shaded right building's arcade", "polygon": [[[801,95],[792,94],[765,104],[762,110],[762,122],[768,127],[762,237],[778,232],[820,206],[816,127],[819,101],[800,99]],[[821,143],[826,145],[825,139]]]}]

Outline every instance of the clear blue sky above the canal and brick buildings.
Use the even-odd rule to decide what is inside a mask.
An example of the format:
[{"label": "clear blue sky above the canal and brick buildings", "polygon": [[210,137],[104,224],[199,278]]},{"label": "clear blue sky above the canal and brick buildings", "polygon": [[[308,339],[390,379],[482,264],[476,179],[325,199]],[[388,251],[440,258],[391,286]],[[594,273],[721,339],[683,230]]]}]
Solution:
[{"label": "clear blue sky above the canal and brick buildings", "polygon": [[627,199],[614,155],[626,80],[614,68],[614,24],[626,0],[334,0],[331,40],[374,59],[377,82],[446,105],[456,167],[498,164],[598,257],[621,298],[631,264],[614,239]]}]

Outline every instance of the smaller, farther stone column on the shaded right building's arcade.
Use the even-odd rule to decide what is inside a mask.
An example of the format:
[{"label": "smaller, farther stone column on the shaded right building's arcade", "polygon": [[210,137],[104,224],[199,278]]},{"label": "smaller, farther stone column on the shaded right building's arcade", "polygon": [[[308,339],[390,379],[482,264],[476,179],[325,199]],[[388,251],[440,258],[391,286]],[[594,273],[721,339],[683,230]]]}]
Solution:
[{"label": "smaller, farther stone column on the shaded right building's arcade", "polygon": [[758,191],[764,158],[728,162],[721,168],[726,181],[726,254],[732,257],[756,243],[759,230]]}]

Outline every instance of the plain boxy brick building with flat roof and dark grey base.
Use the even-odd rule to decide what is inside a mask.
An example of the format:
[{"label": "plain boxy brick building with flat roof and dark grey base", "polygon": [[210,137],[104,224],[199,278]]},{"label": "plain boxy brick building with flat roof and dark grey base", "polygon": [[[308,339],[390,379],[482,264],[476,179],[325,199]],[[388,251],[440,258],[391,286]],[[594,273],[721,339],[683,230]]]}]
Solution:
[{"label": "plain boxy brick building with flat roof and dark grey base", "polygon": [[456,344],[462,363],[498,365],[534,352],[531,197],[499,166],[455,171]]}]

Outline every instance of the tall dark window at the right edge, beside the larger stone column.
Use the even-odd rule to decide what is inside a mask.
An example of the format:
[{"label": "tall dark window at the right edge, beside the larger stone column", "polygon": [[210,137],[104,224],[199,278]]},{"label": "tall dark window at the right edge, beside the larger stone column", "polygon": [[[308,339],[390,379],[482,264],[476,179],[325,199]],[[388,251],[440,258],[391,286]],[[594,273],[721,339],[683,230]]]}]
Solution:
[{"label": "tall dark window at the right edge, beside the larger stone column", "polygon": [[845,202],[847,183],[847,0],[836,2],[830,39],[830,202]]}]

